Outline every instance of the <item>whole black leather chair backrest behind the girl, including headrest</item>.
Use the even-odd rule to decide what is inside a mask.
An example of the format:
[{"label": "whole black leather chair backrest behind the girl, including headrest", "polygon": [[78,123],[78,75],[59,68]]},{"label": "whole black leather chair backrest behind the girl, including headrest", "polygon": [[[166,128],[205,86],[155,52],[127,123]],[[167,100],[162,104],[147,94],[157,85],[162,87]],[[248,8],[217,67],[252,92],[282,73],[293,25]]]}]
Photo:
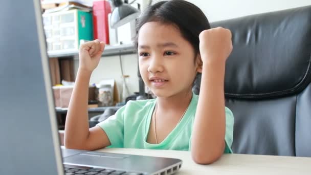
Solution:
[{"label": "whole black leather chair backrest behind the girl, including headrest", "polygon": [[311,6],[211,26],[232,32],[225,97],[235,118],[233,151],[311,157]]}]

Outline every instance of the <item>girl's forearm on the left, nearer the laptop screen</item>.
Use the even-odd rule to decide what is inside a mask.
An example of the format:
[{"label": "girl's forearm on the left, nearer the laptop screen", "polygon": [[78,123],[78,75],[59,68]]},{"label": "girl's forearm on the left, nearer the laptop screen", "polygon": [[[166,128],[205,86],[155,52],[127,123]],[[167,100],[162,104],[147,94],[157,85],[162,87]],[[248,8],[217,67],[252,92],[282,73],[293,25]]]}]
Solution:
[{"label": "girl's forearm on the left, nearer the laptop screen", "polygon": [[89,134],[87,104],[90,77],[91,72],[78,70],[65,123],[64,144],[69,148],[82,146]]}]

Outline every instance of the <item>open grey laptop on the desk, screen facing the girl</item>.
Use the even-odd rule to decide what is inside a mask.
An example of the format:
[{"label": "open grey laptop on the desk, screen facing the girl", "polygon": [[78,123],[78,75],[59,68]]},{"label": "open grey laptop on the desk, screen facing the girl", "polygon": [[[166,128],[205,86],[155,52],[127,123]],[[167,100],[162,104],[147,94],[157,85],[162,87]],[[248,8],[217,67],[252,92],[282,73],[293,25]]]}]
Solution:
[{"label": "open grey laptop on the desk, screen facing the girl", "polygon": [[0,174],[172,174],[179,159],[60,147],[40,1],[0,1]]}]

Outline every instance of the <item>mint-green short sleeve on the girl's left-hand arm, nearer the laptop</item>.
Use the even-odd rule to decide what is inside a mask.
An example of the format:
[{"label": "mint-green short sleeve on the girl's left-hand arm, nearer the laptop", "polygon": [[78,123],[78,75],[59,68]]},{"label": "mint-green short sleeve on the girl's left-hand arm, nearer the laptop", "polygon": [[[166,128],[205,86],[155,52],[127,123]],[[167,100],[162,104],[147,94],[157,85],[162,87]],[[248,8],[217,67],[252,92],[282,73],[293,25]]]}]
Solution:
[{"label": "mint-green short sleeve on the girl's left-hand arm, nearer the laptop", "polygon": [[111,145],[108,147],[122,148],[124,136],[124,110],[121,107],[115,115],[97,124],[106,133]]}]

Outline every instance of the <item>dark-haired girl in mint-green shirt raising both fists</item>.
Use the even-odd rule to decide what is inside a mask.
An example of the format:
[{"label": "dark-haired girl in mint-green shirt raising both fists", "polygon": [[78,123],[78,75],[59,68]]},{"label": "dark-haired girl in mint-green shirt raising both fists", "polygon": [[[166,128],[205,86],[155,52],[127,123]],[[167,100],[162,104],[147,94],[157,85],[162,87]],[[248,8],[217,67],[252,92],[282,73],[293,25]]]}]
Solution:
[{"label": "dark-haired girl in mint-green shirt raising both fists", "polygon": [[[104,43],[84,43],[66,117],[65,147],[191,150],[199,164],[231,153],[233,114],[224,99],[231,32],[210,29],[198,7],[172,0],[150,6],[139,18],[137,33],[139,70],[157,99],[129,101],[114,116],[89,129],[88,84]],[[191,91],[197,73],[202,73],[199,96]]]}]

